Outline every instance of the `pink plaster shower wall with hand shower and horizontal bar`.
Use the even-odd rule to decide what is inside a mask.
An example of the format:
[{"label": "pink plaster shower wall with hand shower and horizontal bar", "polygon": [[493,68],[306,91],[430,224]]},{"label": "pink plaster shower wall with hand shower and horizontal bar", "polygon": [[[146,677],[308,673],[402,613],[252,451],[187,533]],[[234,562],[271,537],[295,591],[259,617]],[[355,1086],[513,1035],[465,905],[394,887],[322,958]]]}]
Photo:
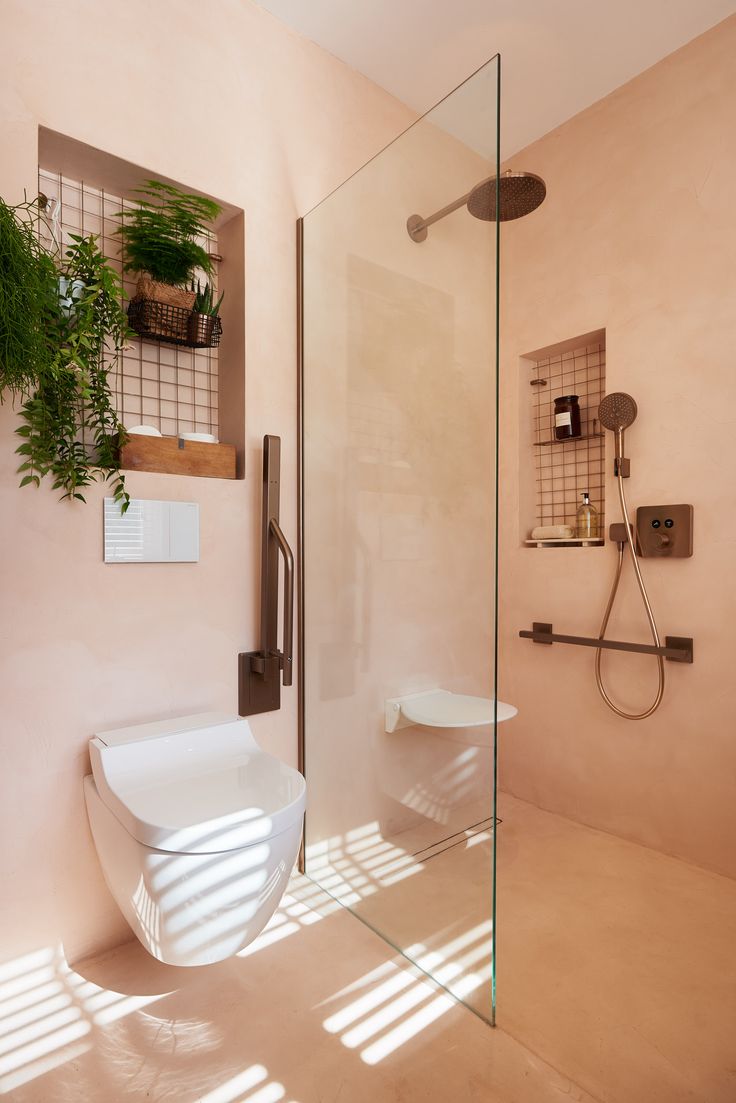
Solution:
[{"label": "pink plaster shower wall with hand shower and horizontal bar", "polygon": [[[513,158],[547,200],[502,235],[502,788],[566,816],[736,876],[736,18],[694,40]],[[607,390],[630,392],[631,504],[691,502],[695,555],[644,560],[663,634],[692,635],[695,663],[666,663],[650,719],[607,710],[594,653],[520,640],[533,620],[598,631],[615,548],[520,546],[519,357],[605,328]],[[521,382],[520,382],[521,381]],[[617,520],[607,441],[607,520]],[[585,488],[580,488],[585,489]],[[627,569],[609,634],[647,642]],[[653,660],[612,655],[610,686],[648,704]]]}]

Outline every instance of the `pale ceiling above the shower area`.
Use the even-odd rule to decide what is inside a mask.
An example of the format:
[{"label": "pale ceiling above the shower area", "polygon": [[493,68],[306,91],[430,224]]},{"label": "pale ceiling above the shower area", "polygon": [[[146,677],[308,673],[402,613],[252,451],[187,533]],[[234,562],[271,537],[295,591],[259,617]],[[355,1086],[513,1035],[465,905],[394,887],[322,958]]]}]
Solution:
[{"label": "pale ceiling above the shower area", "polygon": [[495,53],[503,157],[736,10],[736,0],[258,0],[419,113]]}]

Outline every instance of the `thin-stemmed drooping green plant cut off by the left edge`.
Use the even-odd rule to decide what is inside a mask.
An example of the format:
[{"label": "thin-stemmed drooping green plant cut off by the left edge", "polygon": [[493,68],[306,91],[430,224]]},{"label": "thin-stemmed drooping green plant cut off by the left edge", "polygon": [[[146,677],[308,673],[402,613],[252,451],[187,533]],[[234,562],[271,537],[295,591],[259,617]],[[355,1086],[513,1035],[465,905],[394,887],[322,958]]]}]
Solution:
[{"label": "thin-stemmed drooping green plant cut off by the left edge", "polygon": [[40,206],[0,199],[0,401],[28,395],[54,356],[56,268],[39,240]]}]

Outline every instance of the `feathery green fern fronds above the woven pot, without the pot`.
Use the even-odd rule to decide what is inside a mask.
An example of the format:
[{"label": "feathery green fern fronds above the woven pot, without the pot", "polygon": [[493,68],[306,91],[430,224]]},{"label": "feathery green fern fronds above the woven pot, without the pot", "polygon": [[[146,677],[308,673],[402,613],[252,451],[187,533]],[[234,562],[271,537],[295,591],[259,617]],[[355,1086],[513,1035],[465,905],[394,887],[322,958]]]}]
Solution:
[{"label": "feathery green fern fronds above the woven pot, without the pot", "polygon": [[148,272],[174,287],[185,287],[196,269],[212,276],[212,258],[198,239],[220,214],[220,204],[159,180],[147,180],[137,194],[143,199],[119,212],[122,225],[116,231],[125,250],[124,271]]}]

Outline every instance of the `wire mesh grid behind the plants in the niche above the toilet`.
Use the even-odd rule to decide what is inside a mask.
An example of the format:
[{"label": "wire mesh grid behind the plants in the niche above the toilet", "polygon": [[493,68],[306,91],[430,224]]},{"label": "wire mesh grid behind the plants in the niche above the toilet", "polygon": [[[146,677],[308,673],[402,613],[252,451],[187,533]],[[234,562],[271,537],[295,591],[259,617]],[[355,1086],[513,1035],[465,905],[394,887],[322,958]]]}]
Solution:
[{"label": "wire mesh grid behind the plants in the niche above the toilet", "polygon": [[[45,169],[39,170],[39,191],[55,201],[47,204],[45,223],[41,223],[44,244],[63,253],[70,234],[96,234],[100,249],[120,270],[120,240],[115,232],[120,226],[119,212],[134,208],[135,201]],[[213,235],[201,244],[216,255]],[[212,283],[216,285],[216,270]],[[124,287],[132,299],[136,281],[125,276]],[[128,429],[148,425],[164,437],[181,432],[217,436],[216,347],[188,349],[132,338],[118,363],[113,389],[118,416]]]}]

